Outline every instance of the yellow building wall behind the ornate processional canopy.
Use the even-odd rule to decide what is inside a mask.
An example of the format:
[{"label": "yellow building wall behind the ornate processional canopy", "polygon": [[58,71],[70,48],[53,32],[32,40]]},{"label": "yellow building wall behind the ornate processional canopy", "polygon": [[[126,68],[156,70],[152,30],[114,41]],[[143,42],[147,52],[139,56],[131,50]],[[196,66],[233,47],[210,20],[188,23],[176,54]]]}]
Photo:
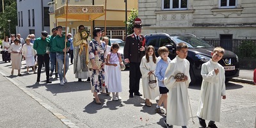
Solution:
[{"label": "yellow building wall behind the ornate processional canopy", "polygon": [[[92,5],[92,1],[87,0],[80,0],[80,1],[74,1],[70,0],[68,5]],[[61,6],[64,6],[66,3],[61,3],[60,0],[58,0],[56,4],[56,8],[60,8]],[[105,0],[94,0],[95,5],[104,5],[105,8]],[[52,6],[55,6],[52,5]],[[54,8],[54,7],[53,7]],[[133,8],[138,9],[138,0],[129,0],[127,1],[127,17],[129,17],[129,13]],[[116,0],[108,0],[107,1],[107,14],[106,14],[106,29],[113,29],[113,28],[120,28],[122,30],[125,30],[125,3],[124,1],[116,1]],[[56,26],[56,19],[54,17],[55,13],[50,13],[50,28],[54,28]],[[104,28],[104,20],[105,16],[102,15],[101,17],[94,20],[95,27]],[[66,26],[65,19],[57,19],[58,26]],[[79,20],[72,20],[68,19],[67,26],[68,28],[76,29],[79,25],[84,25],[88,27],[88,30],[91,31],[91,27],[93,26],[92,21],[86,22],[86,21],[79,21]],[[69,29],[68,33],[72,33],[72,29]],[[125,33],[124,33],[125,35]],[[110,36],[110,35],[109,35]],[[124,36],[122,36],[122,39],[125,39]]]}]

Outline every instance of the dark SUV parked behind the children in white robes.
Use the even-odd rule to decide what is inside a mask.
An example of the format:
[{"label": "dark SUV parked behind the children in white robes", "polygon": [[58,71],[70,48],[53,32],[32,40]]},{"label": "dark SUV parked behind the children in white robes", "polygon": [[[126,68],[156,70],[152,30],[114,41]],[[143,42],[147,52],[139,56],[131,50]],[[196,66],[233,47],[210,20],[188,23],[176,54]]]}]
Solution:
[{"label": "dark SUV parked behind the children in white robes", "polygon": [[[153,45],[157,50],[161,46],[166,46],[169,49],[169,58],[173,60],[176,56],[176,45],[184,42],[188,45],[187,60],[190,62],[189,74],[191,83],[195,83],[197,79],[202,79],[201,67],[202,64],[211,60],[211,52],[214,47],[204,40],[197,38],[192,34],[169,35],[166,33],[153,33],[145,35],[146,45]],[[223,58],[218,61],[225,68],[226,82],[232,77],[239,76],[238,57],[234,52],[225,50]]]}]

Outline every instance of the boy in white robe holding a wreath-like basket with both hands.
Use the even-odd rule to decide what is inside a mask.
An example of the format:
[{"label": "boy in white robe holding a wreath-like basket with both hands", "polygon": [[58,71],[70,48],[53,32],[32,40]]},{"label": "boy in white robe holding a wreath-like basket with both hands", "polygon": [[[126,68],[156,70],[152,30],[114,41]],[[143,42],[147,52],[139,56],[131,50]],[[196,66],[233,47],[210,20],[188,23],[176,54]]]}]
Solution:
[{"label": "boy in white robe holding a wreath-like basket with both hands", "polygon": [[[169,63],[164,77],[164,85],[169,90],[164,123],[167,127],[179,125],[186,128],[189,120],[188,86],[191,82],[189,61],[186,60],[188,45],[177,44],[176,53],[177,56]],[[182,77],[175,77],[177,74],[182,74]]]}]

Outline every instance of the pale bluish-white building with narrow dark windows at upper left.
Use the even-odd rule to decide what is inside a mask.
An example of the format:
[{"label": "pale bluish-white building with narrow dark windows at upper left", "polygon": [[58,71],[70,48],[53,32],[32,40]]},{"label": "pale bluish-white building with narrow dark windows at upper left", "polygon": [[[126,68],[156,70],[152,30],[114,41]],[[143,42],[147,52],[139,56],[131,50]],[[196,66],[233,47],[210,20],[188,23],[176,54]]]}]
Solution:
[{"label": "pale bluish-white building with narrow dark windows at upper left", "polygon": [[22,38],[29,34],[35,34],[35,38],[41,36],[41,31],[50,33],[49,5],[51,0],[17,0],[16,33]]}]

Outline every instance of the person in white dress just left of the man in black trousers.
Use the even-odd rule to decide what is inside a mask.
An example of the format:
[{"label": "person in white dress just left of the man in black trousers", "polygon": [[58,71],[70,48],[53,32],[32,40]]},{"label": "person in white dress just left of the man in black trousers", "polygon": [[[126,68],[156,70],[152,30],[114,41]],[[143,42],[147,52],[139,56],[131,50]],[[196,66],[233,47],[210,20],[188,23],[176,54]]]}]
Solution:
[{"label": "person in white dress just left of the man in black trousers", "polygon": [[30,38],[26,38],[26,44],[22,47],[23,52],[22,55],[24,58],[26,58],[26,66],[27,66],[27,74],[29,73],[28,69],[29,67],[33,67],[34,74],[36,74],[35,71],[35,55],[36,51],[33,49],[33,44],[30,43]]}]

